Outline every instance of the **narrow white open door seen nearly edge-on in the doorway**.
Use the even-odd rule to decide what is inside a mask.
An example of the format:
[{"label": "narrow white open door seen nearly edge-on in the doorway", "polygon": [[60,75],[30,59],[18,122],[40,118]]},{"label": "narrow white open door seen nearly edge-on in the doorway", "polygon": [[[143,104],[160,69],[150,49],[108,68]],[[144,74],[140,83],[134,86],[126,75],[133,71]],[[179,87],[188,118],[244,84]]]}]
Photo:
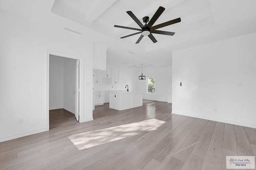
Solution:
[{"label": "narrow white open door seen nearly edge-on in the doorway", "polygon": [[76,120],[79,121],[79,60],[76,61],[76,92],[75,92],[75,116]]}]

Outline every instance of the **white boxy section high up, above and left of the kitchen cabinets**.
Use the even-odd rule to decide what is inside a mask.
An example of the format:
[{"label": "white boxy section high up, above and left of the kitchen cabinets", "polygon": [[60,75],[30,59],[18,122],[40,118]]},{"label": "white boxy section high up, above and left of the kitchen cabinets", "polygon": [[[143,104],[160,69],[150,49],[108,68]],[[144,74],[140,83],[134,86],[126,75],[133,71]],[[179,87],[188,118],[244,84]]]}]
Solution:
[{"label": "white boxy section high up, above and left of the kitchen cabinets", "polygon": [[93,68],[99,70],[106,70],[107,64],[107,47],[93,43]]}]

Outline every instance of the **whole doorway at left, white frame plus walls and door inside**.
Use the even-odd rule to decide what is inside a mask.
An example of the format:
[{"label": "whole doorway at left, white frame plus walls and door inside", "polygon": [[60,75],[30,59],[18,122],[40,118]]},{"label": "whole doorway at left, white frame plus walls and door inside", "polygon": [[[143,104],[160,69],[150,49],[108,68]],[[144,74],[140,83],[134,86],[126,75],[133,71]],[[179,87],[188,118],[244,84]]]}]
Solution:
[{"label": "whole doorway at left, white frame plus walls and door inside", "polygon": [[82,57],[47,51],[46,127],[49,130],[49,110],[73,113],[82,120]]}]

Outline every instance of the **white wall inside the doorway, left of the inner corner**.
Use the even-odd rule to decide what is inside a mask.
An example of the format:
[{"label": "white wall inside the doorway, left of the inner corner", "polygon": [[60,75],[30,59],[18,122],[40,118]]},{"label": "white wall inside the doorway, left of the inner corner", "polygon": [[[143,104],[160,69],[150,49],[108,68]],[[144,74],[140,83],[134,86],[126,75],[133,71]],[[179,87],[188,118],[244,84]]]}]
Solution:
[{"label": "white wall inside the doorway, left of the inner corner", "polygon": [[49,58],[49,109],[63,108],[64,58],[50,55]]}]

